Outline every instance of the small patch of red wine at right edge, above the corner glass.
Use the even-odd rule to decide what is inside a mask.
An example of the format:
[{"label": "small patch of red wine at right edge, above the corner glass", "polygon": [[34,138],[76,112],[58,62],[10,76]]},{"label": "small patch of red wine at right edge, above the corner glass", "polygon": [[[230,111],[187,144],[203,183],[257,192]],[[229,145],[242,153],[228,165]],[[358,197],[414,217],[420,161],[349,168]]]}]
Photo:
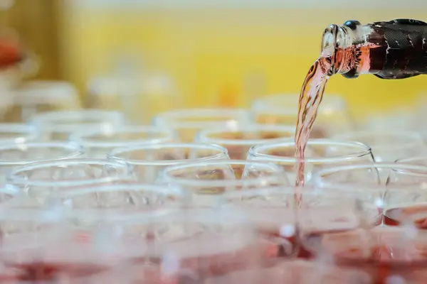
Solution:
[{"label": "small patch of red wine at right edge, above the corner glass", "polygon": [[413,224],[417,229],[427,229],[427,204],[415,204],[386,210],[384,224],[399,226]]}]

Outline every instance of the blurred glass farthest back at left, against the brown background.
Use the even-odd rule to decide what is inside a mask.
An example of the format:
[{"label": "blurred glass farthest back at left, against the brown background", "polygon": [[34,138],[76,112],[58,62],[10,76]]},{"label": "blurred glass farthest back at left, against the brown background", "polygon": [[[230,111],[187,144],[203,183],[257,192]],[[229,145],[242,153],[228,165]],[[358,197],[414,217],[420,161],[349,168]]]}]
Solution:
[{"label": "blurred glass farthest back at left, against the brown background", "polygon": [[13,103],[3,114],[8,122],[27,122],[45,111],[78,109],[77,89],[65,81],[29,81],[12,94]]}]

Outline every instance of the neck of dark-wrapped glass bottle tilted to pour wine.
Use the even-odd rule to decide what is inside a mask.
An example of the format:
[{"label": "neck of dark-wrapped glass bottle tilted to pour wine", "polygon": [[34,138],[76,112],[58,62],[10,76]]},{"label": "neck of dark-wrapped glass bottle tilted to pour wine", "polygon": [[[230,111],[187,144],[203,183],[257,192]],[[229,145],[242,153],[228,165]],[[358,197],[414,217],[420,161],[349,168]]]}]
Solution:
[{"label": "neck of dark-wrapped glass bottle tilted to pour wine", "polygon": [[331,60],[329,75],[404,79],[427,74],[427,23],[397,19],[331,25],[323,33],[322,55]]}]

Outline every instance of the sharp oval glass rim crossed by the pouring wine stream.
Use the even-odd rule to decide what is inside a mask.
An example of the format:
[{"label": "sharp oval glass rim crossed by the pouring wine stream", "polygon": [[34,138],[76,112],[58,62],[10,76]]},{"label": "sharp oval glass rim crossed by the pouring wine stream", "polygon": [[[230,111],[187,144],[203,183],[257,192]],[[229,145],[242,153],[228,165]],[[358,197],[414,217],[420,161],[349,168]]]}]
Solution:
[{"label": "sharp oval glass rim crossed by the pouring wine stream", "polygon": [[[337,157],[330,157],[330,158],[305,158],[305,163],[336,163],[336,162],[345,162],[352,160],[353,158],[361,158],[366,155],[372,156],[371,147],[367,146],[364,143],[357,142],[357,141],[339,141],[339,140],[332,140],[332,139],[324,139],[324,138],[313,138],[307,141],[307,146],[310,145],[320,145],[320,146],[352,146],[354,148],[359,147],[361,148],[358,152],[347,154],[347,155],[341,155]],[[285,157],[280,155],[270,155],[265,153],[259,153],[259,151],[265,151],[269,149],[274,148],[285,148],[290,147],[295,149],[295,141],[281,141],[280,143],[264,143],[262,145],[256,145],[252,146],[248,151],[248,158],[255,158],[253,160],[258,159],[265,159],[268,161],[275,161],[278,163],[296,163],[298,158],[295,156],[292,157]],[[362,151],[362,148],[364,148],[364,151]]]}]

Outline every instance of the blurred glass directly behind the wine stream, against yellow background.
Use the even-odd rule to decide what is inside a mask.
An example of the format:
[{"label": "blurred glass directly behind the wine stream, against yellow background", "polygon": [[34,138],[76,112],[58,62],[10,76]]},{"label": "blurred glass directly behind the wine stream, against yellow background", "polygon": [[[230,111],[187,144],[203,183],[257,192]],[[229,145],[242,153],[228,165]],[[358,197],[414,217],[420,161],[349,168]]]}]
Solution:
[{"label": "blurred glass directly behind the wine stream, against yellow background", "polygon": [[[299,94],[271,94],[256,99],[251,107],[258,124],[293,125],[297,121]],[[325,94],[317,111],[312,138],[330,136],[351,131],[354,128],[345,100],[338,95]]]}]

